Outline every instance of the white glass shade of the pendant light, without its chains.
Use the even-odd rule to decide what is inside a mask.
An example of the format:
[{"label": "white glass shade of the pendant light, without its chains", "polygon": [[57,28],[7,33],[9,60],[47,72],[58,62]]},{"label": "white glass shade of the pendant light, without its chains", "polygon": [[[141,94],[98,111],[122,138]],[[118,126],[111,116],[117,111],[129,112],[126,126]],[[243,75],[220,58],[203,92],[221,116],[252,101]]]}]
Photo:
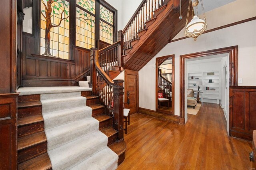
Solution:
[{"label": "white glass shade of the pendant light, without its chains", "polygon": [[206,22],[200,19],[198,16],[194,16],[190,23],[186,26],[185,34],[188,37],[196,38],[200,36],[207,28]]}]

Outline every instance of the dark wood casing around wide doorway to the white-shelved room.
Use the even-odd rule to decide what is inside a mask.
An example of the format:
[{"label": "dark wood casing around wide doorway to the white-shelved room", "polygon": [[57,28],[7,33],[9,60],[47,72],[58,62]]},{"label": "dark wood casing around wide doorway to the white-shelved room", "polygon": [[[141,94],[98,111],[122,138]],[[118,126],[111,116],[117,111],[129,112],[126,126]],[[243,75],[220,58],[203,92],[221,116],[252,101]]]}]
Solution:
[{"label": "dark wood casing around wide doorway to the white-shelved room", "polygon": [[229,86],[238,85],[238,45],[180,55],[180,117],[185,117],[185,59],[229,53]]}]

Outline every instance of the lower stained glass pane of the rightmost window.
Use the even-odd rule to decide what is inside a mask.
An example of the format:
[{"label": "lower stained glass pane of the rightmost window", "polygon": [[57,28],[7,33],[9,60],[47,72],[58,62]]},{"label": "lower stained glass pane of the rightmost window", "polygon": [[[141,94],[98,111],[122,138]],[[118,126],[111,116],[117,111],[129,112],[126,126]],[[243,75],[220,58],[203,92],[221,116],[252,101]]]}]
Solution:
[{"label": "lower stained glass pane of the rightmost window", "polygon": [[100,40],[113,43],[113,27],[103,21],[100,21]]}]

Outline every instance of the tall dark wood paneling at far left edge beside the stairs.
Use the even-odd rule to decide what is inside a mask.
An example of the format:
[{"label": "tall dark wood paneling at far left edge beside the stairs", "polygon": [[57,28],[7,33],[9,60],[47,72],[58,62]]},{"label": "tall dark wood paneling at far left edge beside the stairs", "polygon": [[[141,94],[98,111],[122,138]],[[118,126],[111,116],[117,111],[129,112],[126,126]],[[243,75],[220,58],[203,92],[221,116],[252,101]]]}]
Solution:
[{"label": "tall dark wood paneling at far left edge beside the stairs", "polygon": [[16,0],[0,0],[0,169],[17,168]]}]

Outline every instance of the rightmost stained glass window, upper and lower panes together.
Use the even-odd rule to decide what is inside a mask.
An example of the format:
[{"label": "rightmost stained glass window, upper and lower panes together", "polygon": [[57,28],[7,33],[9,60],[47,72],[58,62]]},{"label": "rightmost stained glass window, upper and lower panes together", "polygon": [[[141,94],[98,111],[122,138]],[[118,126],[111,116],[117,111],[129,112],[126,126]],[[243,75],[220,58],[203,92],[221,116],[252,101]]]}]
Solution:
[{"label": "rightmost stained glass window, upper and lower panes together", "polygon": [[100,5],[100,40],[113,43],[113,13]]}]

